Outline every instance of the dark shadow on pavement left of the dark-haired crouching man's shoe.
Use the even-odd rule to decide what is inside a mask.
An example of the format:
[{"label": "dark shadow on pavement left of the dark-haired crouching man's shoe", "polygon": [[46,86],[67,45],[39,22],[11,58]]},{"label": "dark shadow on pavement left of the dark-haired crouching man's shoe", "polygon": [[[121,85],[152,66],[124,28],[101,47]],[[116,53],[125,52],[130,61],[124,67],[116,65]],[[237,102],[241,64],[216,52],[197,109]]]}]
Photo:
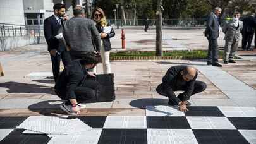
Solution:
[{"label": "dark shadow on pavement left of the dark-haired crouching man's shoe", "polygon": [[61,100],[46,100],[29,105],[28,109],[44,116],[61,116],[66,114],[66,112],[59,108],[61,103],[63,103]]}]

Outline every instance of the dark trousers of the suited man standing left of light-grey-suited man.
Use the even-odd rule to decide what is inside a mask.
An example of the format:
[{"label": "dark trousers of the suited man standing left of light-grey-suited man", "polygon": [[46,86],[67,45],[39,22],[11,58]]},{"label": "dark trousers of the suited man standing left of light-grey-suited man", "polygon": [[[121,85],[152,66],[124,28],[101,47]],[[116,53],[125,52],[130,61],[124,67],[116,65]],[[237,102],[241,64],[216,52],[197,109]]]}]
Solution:
[{"label": "dark trousers of the suited man standing left of light-grey-suited man", "polygon": [[210,39],[207,37],[209,45],[208,45],[208,55],[207,55],[207,61],[209,63],[218,63],[219,59],[219,46],[217,39]]}]

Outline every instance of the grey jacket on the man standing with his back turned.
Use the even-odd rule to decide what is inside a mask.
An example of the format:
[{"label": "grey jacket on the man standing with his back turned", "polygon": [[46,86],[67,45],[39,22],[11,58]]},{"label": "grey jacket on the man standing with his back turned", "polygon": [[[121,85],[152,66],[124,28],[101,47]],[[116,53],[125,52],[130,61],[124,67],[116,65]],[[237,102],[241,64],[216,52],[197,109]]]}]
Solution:
[{"label": "grey jacket on the man standing with his back turned", "polygon": [[66,40],[66,45],[71,48],[71,52],[101,50],[101,36],[95,27],[94,21],[88,18],[74,16],[67,20],[64,24],[64,39]]}]

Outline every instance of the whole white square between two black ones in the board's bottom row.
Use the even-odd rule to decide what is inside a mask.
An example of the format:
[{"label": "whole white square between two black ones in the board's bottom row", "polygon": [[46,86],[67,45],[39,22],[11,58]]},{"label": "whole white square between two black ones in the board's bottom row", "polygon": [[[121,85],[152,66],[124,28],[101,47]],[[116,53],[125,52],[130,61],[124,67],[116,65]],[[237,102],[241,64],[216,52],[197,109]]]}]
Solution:
[{"label": "whole white square between two black ones in the board's bottom row", "polygon": [[147,129],[148,144],[198,143],[192,129]]}]

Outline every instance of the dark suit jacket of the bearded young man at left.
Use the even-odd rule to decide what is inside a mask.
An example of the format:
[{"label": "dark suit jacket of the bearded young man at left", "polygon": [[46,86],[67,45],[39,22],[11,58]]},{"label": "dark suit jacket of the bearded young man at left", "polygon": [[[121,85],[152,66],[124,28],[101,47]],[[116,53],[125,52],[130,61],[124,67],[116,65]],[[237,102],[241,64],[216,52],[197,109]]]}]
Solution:
[{"label": "dark suit jacket of the bearded young man at left", "polygon": [[[63,23],[62,20],[61,23]],[[65,49],[64,45],[60,44],[59,40],[55,38],[55,36],[58,35],[59,28],[61,28],[61,25],[59,25],[54,15],[44,20],[44,37],[46,38],[48,51],[51,49],[63,51]]]}]

